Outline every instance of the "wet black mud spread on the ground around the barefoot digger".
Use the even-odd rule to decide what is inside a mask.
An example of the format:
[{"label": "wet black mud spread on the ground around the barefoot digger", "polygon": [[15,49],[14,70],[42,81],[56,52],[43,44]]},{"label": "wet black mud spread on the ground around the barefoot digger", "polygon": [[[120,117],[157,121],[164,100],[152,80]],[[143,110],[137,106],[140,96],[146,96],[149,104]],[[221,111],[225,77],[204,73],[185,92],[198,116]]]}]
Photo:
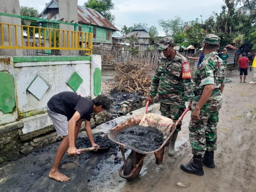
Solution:
[{"label": "wet black mud spread on the ground around the barefoot digger", "polygon": [[[91,191],[93,186],[107,180],[117,171],[122,162],[119,146],[107,137],[95,136],[94,141],[108,150],[86,152],[77,156],[64,155],[60,172],[70,177],[70,181],[60,183],[48,177],[56,150],[60,144],[35,151],[0,168],[1,191]],[[80,135],[77,149],[91,147],[89,139]]]}]

